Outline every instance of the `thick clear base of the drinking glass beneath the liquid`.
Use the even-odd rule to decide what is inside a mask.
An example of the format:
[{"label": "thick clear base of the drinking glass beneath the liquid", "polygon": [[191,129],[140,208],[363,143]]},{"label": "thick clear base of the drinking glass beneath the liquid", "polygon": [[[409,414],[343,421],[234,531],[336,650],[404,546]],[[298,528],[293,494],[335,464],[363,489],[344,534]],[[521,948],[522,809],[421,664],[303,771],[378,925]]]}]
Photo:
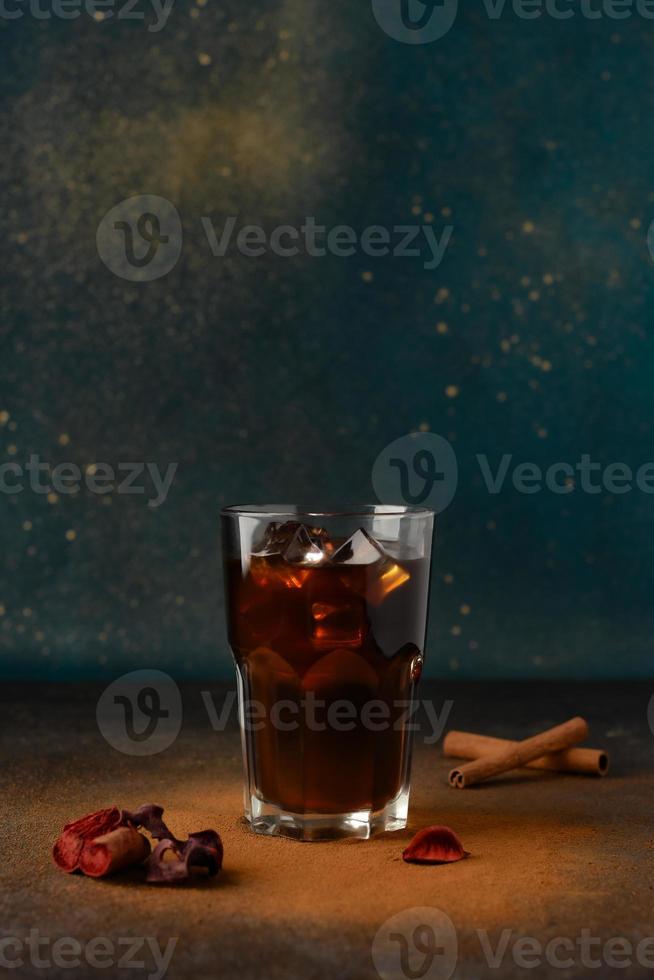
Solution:
[{"label": "thick clear base of the drinking glass beneath the liquid", "polygon": [[352,810],[349,813],[290,813],[274,803],[252,796],[245,817],[255,834],[269,837],[290,837],[302,841],[340,840],[344,837],[368,840],[374,834],[404,830],[408,810],[407,789],[382,810]]}]

